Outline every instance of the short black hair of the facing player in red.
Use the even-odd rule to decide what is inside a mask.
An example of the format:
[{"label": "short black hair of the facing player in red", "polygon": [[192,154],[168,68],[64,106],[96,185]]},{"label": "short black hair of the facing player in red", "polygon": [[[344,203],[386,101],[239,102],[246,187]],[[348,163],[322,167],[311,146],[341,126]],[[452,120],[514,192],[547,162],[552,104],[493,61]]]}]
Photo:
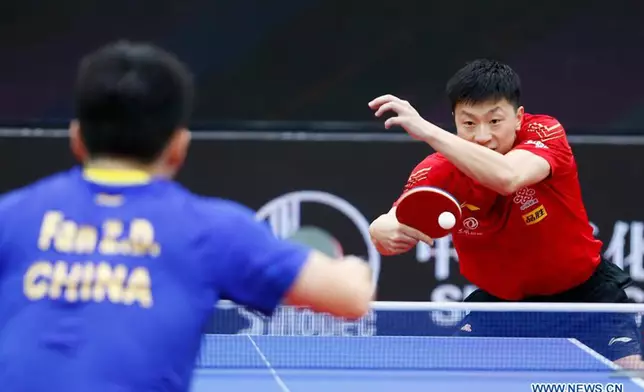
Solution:
[{"label": "short black hair of the facing player in red", "polygon": [[476,104],[506,99],[515,108],[521,100],[521,79],[507,64],[495,60],[474,60],[459,69],[447,82],[452,110],[459,103]]}]

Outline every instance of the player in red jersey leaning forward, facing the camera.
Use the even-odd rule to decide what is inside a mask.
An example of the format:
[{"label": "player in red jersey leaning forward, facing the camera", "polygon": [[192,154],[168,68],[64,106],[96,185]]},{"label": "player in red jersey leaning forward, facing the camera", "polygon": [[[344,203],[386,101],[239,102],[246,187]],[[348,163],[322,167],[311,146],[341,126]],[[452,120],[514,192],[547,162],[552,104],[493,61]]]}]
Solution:
[{"label": "player in red jersey leaning forward, facing the camera", "polygon": [[[628,274],[602,261],[582,201],[563,126],[524,112],[521,83],[507,65],[476,60],[447,83],[457,134],[424,120],[407,102],[369,103],[385,127],[401,126],[436,152],[412,171],[405,191],[434,186],[462,206],[452,230],[462,275],[478,289],[469,302],[628,302]],[[370,227],[383,255],[431,241],[400,224],[396,203]],[[632,314],[471,312],[460,335],[577,338],[626,368],[641,368]]]}]

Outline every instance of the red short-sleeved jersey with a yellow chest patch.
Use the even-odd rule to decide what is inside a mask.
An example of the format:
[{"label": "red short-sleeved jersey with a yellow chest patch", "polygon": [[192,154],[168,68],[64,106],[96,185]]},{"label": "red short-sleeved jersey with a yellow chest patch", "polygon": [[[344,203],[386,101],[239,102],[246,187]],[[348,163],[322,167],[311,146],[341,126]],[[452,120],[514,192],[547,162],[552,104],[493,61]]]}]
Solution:
[{"label": "red short-sleeved jersey with a yellow chest patch", "polygon": [[592,275],[602,243],[588,221],[565,131],[552,117],[525,114],[513,149],[544,158],[550,176],[502,196],[436,153],[416,166],[405,190],[431,185],[461,203],[452,240],[461,274],[482,290],[520,300],[571,289]]}]

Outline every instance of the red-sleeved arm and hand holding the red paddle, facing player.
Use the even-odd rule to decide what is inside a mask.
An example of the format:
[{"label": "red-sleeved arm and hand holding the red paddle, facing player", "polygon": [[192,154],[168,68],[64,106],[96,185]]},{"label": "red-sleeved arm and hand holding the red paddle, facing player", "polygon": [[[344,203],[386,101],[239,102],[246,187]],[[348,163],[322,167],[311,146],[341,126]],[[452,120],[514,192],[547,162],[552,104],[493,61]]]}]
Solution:
[{"label": "red-sleeved arm and hand holding the red paddle, facing player", "polygon": [[[454,193],[457,170],[439,154],[432,154],[421,161],[412,170],[403,194],[419,186],[434,186]],[[391,256],[401,254],[412,249],[418,241],[432,244],[433,240],[418,230],[403,225],[396,219],[396,205],[394,202],[389,212],[380,215],[369,226],[369,234],[374,246],[382,255]]]}]

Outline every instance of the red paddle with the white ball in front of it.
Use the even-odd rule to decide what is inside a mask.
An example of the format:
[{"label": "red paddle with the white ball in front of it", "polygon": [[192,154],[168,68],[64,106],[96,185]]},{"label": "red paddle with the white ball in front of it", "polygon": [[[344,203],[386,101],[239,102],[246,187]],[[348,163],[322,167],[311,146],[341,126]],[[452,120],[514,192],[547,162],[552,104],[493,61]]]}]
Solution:
[{"label": "red paddle with the white ball in front of it", "polygon": [[442,189],[418,187],[400,197],[396,218],[431,238],[441,238],[461,219],[461,206]]}]

